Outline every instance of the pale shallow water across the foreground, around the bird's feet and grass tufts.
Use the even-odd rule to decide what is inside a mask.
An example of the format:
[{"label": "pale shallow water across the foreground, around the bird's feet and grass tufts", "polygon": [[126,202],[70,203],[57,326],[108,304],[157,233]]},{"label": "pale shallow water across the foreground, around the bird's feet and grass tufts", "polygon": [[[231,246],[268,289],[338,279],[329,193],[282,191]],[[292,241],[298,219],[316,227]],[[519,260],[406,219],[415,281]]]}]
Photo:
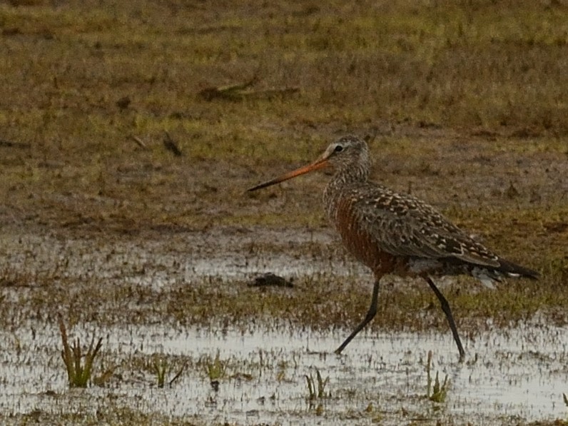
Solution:
[{"label": "pale shallow water across the foreground, around the bird's feet and grass tufts", "polygon": [[[35,331],[31,331],[35,330]],[[83,330],[84,336],[88,330]],[[103,340],[103,362],[128,365],[132,356],[163,354],[166,359],[186,360],[186,372],[171,388],[158,389],[148,370],[117,368],[108,387],[69,391],[59,356],[58,330],[29,328],[0,334],[0,377],[3,392],[0,409],[7,413],[103,410],[108,395],[113,404],[129,405],[144,412],[173,416],[198,416],[199,420],[282,422],[321,416],[338,424],[371,422],[372,404],[383,422],[396,424],[401,410],[426,418],[448,417],[482,421],[497,417],[542,420],[564,417],[567,409],[567,330],[522,325],[512,330],[482,333],[467,347],[467,360],[457,362],[455,343],[446,336],[425,333],[364,335],[351,343],[345,354],[333,354],[343,333],[322,335],[282,325],[280,331],[243,333],[225,330],[166,330],[160,326],[98,328]],[[425,399],[427,351],[432,350],[432,375],[448,375],[447,401]],[[213,360],[218,353],[226,364],[215,392],[199,360]],[[126,362],[124,364],[123,362]],[[212,362],[212,361],[211,361]],[[310,404],[305,375],[315,369],[329,377],[329,396]],[[173,376],[173,374],[171,374]],[[54,393],[47,391],[53,391]],[[288,422],[288,420],[286,420]],[[286,422],[285,422],[286,424]]]}]

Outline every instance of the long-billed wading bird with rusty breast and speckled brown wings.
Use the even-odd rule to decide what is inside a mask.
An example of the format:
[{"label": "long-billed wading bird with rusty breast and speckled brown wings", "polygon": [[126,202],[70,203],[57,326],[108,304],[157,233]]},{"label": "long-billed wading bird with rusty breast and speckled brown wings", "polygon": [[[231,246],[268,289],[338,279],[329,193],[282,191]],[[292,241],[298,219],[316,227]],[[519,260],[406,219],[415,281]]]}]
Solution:
[{"label": "long-billed wading bird with rusty breast and speckled brown wings", "polygon": [[425,201],[370,181],[369,148],[358,136],[343,136],[330,143],[313,163],[247,191],[257,191],[329,166],[333,168],[333,176],[323,193],[328,219],[348,252],[374,275],[367,314],[335,353],[342,353],[375,318],[380,281],[387,274],[422,278],[430,285],[452,330],[460,361],[465,358],[465,350],[450,304],[432,278],[470,275],[492,288],[502,278],[539,277],[537,271],[493,253]]}]

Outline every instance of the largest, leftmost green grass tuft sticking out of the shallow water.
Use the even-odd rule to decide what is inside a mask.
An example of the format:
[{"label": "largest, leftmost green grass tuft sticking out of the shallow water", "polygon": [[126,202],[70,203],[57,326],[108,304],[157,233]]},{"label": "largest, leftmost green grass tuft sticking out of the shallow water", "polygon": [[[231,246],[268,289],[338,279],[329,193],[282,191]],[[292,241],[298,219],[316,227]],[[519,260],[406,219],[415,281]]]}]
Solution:
[{"label": "largest, leftmost green grass tuft sticking out of the shallow water", "polygon": [[[93,361],[101,349],[103,338],[99,338],[96,345],[93,347],[95,338],[91,339],[91,344],[88,345],[87,353],[81,354],[81,342],[79,338],[69,346],[67,340],[67,330],[61,314],[58,315],[59,330],[61,332],[61,340],[63,342],[63,350],[61,350],[61,357],[65,363],[67,370],[67,378],[69,386],[71,387],[87,387],[88,381],[91,380],[91,373],[93,371]],[[84,364],[81,358],[84,357]]]}]

